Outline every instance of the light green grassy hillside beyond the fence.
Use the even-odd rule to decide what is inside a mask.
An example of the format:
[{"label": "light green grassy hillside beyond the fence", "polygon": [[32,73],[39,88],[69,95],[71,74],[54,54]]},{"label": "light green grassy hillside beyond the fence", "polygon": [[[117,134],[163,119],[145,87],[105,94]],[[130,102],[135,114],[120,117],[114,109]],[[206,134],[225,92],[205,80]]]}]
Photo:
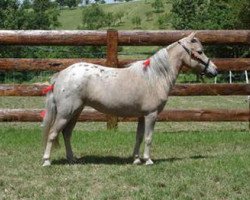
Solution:
[{"label": "light green grassy hillside beyond the fence", "polygon": [[[107,28],[116,28],[119,30],[129,30],[135,29],[134,25],[132,24],[132,19],[135,16],[141,18],[141,26],[136,27],[136,29],[159,29],[159,25],[157,20],[159,16],[169,13],[171,9],[170,3],[165,3],[164,1],[164,9],[160,13],[156,13],[151,6],[152,0],[145,0],[145,1],[134,1],[134,2],[127,2],[127,3],[116,3],[116,4],[103,4],[101,7],[105,12],[115,13],[124,13],[122,18],[122,22],[119,26],[116,27],[107,27]],[[82,10],[83,8],[76,8],[76,9],[64,9],[61,10],[61,15],[59,17],[59,22],[61,23],[61,27],[58,29],[64,30],[72,30],[77,29],[77,27],[81,24],[82,19]],[[149,15],[147,17],[146,15]],[[169,28],[169,25],[165,26],[164,29]]]}]

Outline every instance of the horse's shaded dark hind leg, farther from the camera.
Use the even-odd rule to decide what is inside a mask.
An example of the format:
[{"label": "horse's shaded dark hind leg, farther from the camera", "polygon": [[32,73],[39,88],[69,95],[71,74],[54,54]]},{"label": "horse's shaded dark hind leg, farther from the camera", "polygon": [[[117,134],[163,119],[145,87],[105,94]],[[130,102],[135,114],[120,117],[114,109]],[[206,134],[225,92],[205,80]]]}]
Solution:
[{"label": "horse's shaded dark hind leg, farther from the camera", "polygon": [[69,163],[75,162],[70,140],[71,140],[72,131],[76,125],[77,119],[79,115],[81,114],[81,110],[69,121],[69,123],[65,126],[65,128],[62,131],[63,139],[65,143],[65,149],[66,149],[66,158],[69,161]]}]

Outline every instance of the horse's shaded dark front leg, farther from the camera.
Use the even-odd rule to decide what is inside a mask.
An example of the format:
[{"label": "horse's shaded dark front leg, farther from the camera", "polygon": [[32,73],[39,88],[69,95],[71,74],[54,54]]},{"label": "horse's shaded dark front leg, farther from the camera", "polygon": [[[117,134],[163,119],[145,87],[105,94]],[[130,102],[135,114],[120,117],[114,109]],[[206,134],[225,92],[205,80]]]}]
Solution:
[{"label": "horse's shaded dark front leg, farther from the camera", "polygon": [[145,119],[144,117],[140,117],[138,119],[138,125],[137,125],[137,131],[136,131],[136,142],[135,142],[134,153],[133,153],[134,164],[136,165],[141,164],[140,146],[143,140],[144,130],[145,130]]}]

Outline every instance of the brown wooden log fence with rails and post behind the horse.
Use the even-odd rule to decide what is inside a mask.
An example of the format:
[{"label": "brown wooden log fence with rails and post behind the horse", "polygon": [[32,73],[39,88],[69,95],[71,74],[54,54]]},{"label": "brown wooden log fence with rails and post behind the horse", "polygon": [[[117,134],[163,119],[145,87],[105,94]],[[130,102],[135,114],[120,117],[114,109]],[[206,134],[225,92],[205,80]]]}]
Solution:
[{"label": "brown wooden log fence with rails and post behind the horse", "polygon": [[[1,58],[0,71],[60,71],[70,64],[87,61],[122,68],[135,60],[118,60],[118,46],[168,45],[191,31],[0,31],[0,45],[105,45],[106,59],[17,59]],[[250,45],[250,30],[197,31],[203,44]],[[249,58],[216,58],[213,62],[219,71],[250,70]],[[186,72],[187,68],[183,68]],[[124,83],[125,84],[125,83]],[[0,84],[0,96],[41,96],[43,84]],[[250,95],[250,84],[177,84],[171,95]],[[39,109],[0,109],[0,122],[41,121]],[[110,127],[116,119],[108,116]],[[134,121],[134,118],[119,118]],[[249,110],[168,110],[163,111],[159,121],[249,121]],[[79,121],[107,121],[107,116],[93,111],[84,112]]]}]

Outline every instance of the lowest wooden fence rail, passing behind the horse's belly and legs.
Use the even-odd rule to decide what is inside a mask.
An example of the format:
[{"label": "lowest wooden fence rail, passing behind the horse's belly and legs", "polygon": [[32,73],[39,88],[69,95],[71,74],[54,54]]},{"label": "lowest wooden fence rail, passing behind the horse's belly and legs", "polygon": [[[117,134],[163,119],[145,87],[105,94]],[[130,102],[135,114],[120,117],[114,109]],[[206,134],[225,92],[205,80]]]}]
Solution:
[{"label": "lowest wooden fence rail, passing behind the horse's belly and legs", "polygon": [[[41,122],[40,109],[0,109],[0,122]],[[174,122],[226,122],[239,121],[247,122],[249,112],[246,110],[165,110],[160,113],[157,121],[174,121]],[[84,111],[78,121],[96,121],[106,122],[105,114],[96,111]],[[137,118],[122,118],[118,121],[132,122]]]}]

